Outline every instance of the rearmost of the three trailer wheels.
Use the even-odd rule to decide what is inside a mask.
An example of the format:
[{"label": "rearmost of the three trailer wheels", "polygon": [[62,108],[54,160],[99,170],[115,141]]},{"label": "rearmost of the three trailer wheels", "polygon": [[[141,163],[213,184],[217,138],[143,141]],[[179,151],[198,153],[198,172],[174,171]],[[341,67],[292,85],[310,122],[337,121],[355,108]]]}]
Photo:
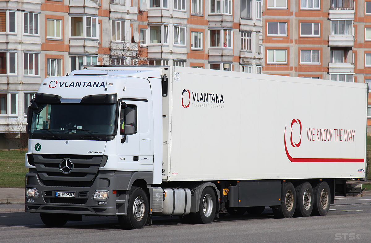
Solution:
[{"label": "rearmost of the three trailer wheels", "polygon": [[324,216],[328,213],[331,203],[331,192],[327,182],[322,181],[314,188],[314,203],[312,216]]}]

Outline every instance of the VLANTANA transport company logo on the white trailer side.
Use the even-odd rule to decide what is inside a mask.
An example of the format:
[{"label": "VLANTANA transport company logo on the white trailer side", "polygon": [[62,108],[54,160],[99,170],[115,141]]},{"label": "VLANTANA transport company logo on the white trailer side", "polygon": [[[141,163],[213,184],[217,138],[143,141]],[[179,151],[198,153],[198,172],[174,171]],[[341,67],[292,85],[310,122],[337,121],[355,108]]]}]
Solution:
[{"label": "VLANTANA transport company logo on the white trailer side", "polygon": [[[191,102],[193,100],[193,102]],[[223,94],[191,92],[188,89],[183,89],[182,106],[184,108],[200,107],[200,108],[224,108]]]}]

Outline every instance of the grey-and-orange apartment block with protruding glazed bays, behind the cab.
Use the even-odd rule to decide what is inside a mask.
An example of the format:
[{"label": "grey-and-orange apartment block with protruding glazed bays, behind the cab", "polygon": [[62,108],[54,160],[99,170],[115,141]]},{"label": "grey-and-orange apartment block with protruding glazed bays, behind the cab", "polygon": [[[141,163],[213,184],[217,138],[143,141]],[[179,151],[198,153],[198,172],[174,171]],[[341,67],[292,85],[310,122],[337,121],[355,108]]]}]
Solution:
[{"label": "grey-and-orange apartment block with protruding glazed bays, behind the cab", "polygon": [[[46,77],[81,65],[262,72],[262,0],[0,1],[0,149]],[[139,53],[139,55],[138,55]]]}]

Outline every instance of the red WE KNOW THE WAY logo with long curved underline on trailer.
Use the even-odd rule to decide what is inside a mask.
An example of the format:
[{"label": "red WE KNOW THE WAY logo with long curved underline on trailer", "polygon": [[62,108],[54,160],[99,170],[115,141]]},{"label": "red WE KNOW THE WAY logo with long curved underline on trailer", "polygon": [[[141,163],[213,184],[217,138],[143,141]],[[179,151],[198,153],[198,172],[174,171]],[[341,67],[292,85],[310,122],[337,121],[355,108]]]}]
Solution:
[{"label": "red WE KNOW THE WAY logo with long curved underline on trailer", "polygon": [[[305,154],[305,152],[309,151],[310,144],[313,144],[310,148],[311,155],[316,154],[316,148],[319,148],[318,150],[323,150],[326,146],[331,146],[331,148],[338,146],[339,150],[341,150],[341,144],[354,142],[355,129],[305,127],[305,124],[302,124],[301,120],[292,119],[290,124],[290,144],[292,148],[288,148],[290,144],[286,142],[286,128],[287,125],[285,126],[284,135],[285,151],[291,162],[364,162],[364,158],[334,158],[334,155],[329,155],[328,158],[318,158],[315,156],[311,158],[309,158],[309,156],[294,158],[289,153],[289,151],[294,154],[301,151]],[[302,131],[306,132],[304,135],[306,138],[302,138]],[[328,151],[334,150],[329,149]]]}]

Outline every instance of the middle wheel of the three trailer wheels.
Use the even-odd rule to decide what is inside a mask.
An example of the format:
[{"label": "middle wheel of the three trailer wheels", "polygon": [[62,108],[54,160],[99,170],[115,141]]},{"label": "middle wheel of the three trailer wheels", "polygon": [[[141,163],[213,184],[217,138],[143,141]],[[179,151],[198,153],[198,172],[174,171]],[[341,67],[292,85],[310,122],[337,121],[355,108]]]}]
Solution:
[{"label": "middle wheel of the three trailer wheels", "polygon": [[295,217],[309,217],[311,216],[314,204],[314,194],[311,183],[304,182],[299,184],[296,188],[296,209]]}]

